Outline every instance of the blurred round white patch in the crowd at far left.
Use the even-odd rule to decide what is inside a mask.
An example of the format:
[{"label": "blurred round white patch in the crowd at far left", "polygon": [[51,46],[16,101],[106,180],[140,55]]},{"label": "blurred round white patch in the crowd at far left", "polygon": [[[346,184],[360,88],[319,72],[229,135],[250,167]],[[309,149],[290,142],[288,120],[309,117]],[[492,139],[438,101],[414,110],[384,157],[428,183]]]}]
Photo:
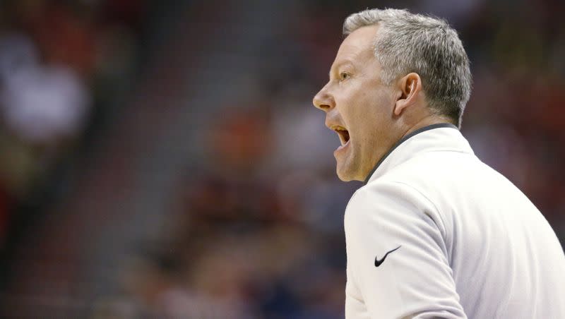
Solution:
[{"label": "blurred round white patch in the crowd at far left", "polygon": [[37,66],[20,70],[6,80],[0,104],[6,126],[20,138],[51,143],[80,133],[89,98],[71,68]]}]

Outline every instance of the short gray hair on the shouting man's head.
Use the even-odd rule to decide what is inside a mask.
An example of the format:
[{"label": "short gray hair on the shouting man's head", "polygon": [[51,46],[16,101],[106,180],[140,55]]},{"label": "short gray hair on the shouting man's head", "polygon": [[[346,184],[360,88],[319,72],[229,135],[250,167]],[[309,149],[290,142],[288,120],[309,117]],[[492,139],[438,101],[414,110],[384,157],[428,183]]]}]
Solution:
[{"label": "short gray hair on the shouting man's head", "polygon": [[445,20],[407,10],[371,9],[348,16],[343,34],[379,25],[374,54],[386,85],[410,72],[418,73],[429,107],[460,126],[471,92],[469,58],[456,30]]}]

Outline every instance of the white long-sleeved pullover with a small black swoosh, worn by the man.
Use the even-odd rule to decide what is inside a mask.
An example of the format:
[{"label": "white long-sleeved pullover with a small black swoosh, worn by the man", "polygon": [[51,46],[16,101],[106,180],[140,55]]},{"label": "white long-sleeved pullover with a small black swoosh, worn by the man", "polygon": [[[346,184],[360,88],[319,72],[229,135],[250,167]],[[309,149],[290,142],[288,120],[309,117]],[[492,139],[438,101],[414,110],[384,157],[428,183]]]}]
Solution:
[{"label": "white long-sleeved pullover with a small black swoosh, worn by the man", "polygon": [[345,239],[347,319],[565,318],[557,236],[456,128],[398,145],[352,196]]}]

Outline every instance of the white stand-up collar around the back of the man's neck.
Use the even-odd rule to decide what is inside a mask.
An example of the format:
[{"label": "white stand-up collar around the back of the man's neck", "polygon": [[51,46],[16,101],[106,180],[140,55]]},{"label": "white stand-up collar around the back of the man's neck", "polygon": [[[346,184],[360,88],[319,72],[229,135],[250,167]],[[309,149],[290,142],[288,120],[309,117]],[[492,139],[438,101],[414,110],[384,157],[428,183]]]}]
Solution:
[{"label": "white stand-up collar around the back of the man's neck", "polygon": [[422,152],[451,150],[474,154],[468,141],[453,124],[440,123],[418,128],[407,134],[386,152],[371,170],[364,184],[374,181],[398,164]]}]

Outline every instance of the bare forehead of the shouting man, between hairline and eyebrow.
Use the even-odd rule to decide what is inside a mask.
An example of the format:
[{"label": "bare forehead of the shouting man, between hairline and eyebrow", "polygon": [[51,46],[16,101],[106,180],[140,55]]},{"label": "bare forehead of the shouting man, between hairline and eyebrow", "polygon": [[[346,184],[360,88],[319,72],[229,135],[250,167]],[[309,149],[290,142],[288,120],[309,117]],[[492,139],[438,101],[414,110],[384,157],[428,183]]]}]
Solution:
[{"label": "bare forehead of the shouting man, between hairline and eyebrow", "polygon": [[343,60],[364,63],[374,59],[374,40],[378,28],[378,25],[367,25],[347,35],[335,56],[334,66]]}]

